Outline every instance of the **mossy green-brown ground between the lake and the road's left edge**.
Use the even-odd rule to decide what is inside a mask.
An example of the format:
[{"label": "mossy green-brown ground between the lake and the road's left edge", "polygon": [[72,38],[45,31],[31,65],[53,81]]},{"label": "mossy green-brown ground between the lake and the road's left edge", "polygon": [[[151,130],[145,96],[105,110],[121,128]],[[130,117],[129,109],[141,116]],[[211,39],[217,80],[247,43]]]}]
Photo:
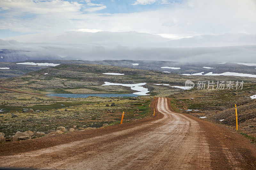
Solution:
[{"label": "mossy green-brown ground between the lake and the road's left edge", "polygon": [[[0,108],[5,110],[5,112],[0,112],[0,132],[5,133],[6,136],[26,130],[45,132],[58,126],[76,125],[83,128],[99,128],[104,123],[114,125],[120,123],[123,111],[125,112],[123,123],[153,115],[149,107],[150,97],[47,99],[42,100],[44,101],[42,104],[36,104],[33,101],[37,102],[38,100],[31,100],[31,97],[25,100],[27,94],[19,95],[24,95],[24,100],[19,100],[22,103],[18,102],[18,106],[16,98],[9,98],[10,103],[0,105]],[[47,103],[45,103],[46,101]],[[115,103],[115,106],[111,107],[112,103]],[[34,111],[40,111],[21,113],[22,108],[33,108]],[[12,118],[12,114],[18,117]]]}]

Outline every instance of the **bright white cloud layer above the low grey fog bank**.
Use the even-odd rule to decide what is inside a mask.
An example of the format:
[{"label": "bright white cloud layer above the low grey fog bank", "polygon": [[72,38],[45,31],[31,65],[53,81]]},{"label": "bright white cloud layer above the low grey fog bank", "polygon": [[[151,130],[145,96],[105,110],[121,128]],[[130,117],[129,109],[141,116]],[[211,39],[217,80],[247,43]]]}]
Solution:
[{"label": "bright white cloud layer above the low grey fog bank", "polygon": [[[87,4],[60,0],[1,0],[0,29],[22,33],[79,29],[137,31],[165,37],[172,34],[178,38],[199,34],[256,34],[254,0],[188,0],[172,2],[158,10],[114,14],[93,13],[105,9],[106,6],[94,4],[93,1],[85,2]],[[171,1],[138,0],[134,4],[167,2]]]}]

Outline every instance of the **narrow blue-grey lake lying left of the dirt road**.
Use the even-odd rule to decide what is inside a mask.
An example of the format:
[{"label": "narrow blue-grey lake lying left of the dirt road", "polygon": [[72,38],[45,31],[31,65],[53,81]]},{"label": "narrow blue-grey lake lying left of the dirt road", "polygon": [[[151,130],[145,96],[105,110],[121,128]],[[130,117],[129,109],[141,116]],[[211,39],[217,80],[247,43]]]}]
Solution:
[{"label": "narrow blue-grey lake lying left of the dirt road", "polygon": [[87,98],[89,96],[97,96],[97,97],[137,97],[141,96],[138,94],[64,94],[64,93],[57,93],[57,94],[47,94],[48,96],[55,96],[55,97],[66,97],[66,98]]}]

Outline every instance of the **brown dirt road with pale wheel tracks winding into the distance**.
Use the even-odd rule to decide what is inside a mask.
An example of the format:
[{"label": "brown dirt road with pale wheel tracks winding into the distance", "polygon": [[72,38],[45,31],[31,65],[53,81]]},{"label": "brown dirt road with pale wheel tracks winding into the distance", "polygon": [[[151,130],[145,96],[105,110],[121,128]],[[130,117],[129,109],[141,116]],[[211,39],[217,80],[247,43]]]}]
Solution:
[{"label": "brown dirt road with pale wheel tracks winding into the distance", "polygon": [[[163,118],[129,129],[1,156],[1,167],[42,169],[256,169],[256,146],[242,135],[158,98]],[[17,146],[18,147],[18,146]]]}]

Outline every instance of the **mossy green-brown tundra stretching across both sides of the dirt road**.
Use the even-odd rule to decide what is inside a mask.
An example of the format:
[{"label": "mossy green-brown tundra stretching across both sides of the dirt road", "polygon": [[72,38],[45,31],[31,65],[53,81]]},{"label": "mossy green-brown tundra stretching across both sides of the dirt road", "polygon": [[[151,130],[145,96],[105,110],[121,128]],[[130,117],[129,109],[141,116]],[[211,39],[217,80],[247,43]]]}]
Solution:
[{"label": "mossy green-brown tundra stretching across both sides of the dirt road", "polygon": [[[35,61],[36,62],[36,61]],[[53,63],[53,62],[52,62]],[[132,62],[138,63],[138,62]],[[132,64],[131,64],[132,66]],[[176,65],[172,65],[176,66]],[[135,67],[135,66],[132,66]],[[177,66],[176,66],[177,67]],[[216,68],[216,65],[211,65]],[[255,70],[255,69],[254,69]],[[113,72],[124,75],[104,75]],[[45,74],[48,73],[48,74]],[[170,86],[184,86],[186,80],[198,81],[244,81],[242,90],[182,90]],[[0,86],[12,90],[37,94],[74,93],[133,93],[130,87],[109,85],[104,82],[136,84],[147,83],[150,96],[138,98],[69,98],[56,99],[0,89],[0,132],[6,139],[17,131],[46,132],[63,126],[69,128],[99,128],[119,123],[124,111],[124,122],[152,115],[149,103],[153,96],[172,98],[175,111],[204,117],[206,121],[234,127],[234,104],[238,106],[238,123],[241,133],[255,137],[256,106],[249,96],[256,94],[255,78],[235,76],[184,76],[159,70],[140,70],[111,65],[64,63],[55,67],[28,72],[19,77],[1,79]],[[169,84],[169,85],[155,85]],[[193,99],[192,99],[193,98]],[[135,100],[136,99],[136,100]],[[111,106],[115,103],[115,106]],[[24,112],[23,109],[33,109]],[[189,111],[195,109],[198,111]],[[223,120],[224,119],[224,120]],[[223,120],[223,121],[220,121]],[[74,128],[72,128],[74,129]],[[75,129],[74,129],[75,130]],[[7,140],[8,141],[8,140]]]}]

